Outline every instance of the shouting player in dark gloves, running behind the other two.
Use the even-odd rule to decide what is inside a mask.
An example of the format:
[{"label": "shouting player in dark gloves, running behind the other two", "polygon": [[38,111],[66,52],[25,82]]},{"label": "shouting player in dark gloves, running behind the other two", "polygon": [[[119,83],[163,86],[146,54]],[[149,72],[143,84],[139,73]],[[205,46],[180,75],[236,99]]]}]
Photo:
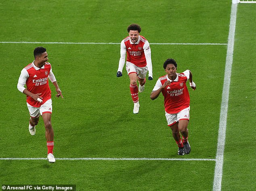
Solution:
[{"label": "shouting player in dark gloves, running behind the other two", "polygon": [[[137,114],[140,108],[138,103],[138,91],[141,93],[145,89],[146,74],[149,71],[149,80],[153,79],[151,50],[149,42],[140,35],[141,27],[136,24],[128,26],[129,36],[121,42],[120,60],[117,77],[122,76],[122,71],[126,59],[126,71],[130,78],[130,92],[134,102],[133,113]],[[137,86],[137,80],[139,87]]]}]

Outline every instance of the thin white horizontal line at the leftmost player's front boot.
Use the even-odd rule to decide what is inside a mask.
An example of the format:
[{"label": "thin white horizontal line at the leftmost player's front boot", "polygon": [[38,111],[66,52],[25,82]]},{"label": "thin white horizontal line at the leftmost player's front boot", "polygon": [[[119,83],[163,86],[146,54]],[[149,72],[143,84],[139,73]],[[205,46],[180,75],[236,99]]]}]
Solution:
[{"label": "thin white horizontal line at the leftmost player's front boot", "polygon": [[[0,160],[47,160],[47,158],[0,158]],[[182,160],[182,161],[216,161],[211,158],[56,158],[56,160]]]}]

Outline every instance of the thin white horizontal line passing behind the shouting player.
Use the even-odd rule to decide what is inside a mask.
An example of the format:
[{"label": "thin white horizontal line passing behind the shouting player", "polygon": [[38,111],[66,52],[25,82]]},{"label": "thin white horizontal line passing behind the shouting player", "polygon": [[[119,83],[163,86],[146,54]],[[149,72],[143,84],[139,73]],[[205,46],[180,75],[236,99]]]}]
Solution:
[{"label": "thin white horizontal line passing behind the shouting player", "polygon": [[[0,42],[0,44],[120,44],[116,42]],[[150,43],[155,45],[227,45],[225,43]]]}]

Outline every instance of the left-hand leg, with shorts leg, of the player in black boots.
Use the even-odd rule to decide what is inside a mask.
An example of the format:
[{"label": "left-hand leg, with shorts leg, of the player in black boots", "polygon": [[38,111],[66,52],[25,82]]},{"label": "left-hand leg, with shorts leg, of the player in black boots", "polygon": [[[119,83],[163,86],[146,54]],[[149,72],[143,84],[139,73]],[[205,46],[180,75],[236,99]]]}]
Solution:
[{"label": "left-hand leg, with shorts leg, of the player in black boots", "polygon": [[172,137],[174,138],[174,140],[176,141],[177,145],[178,145],[178,155],[184,155],[184,149],[183,149],[183,142],[180,138],[180,132],[178,129],[178,118],[176,114],[169,114],[167,112],[165,112],[165,116],[166,116],[166,120],[167,120],[167,124],[170,127],[170,129],[172,130]]}]

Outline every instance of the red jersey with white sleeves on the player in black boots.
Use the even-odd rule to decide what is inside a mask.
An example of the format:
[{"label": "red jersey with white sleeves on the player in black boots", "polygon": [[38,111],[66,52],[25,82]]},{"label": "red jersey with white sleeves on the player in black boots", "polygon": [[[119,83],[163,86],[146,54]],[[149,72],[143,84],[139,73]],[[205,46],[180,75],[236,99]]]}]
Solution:
[{"label": "red jersey with white sleeves on the player in black boots", "polygon": [[177,73],[177,78],[172,81],[167,75],[160,77],[153,89],[159,89],[165,81],[171,81],[170,85],[162,90],[164,96],[164,107],[167,113],[174,114],[188,108],[190,104],[189,91],[186,82],[189,79],[189,71]]}]

